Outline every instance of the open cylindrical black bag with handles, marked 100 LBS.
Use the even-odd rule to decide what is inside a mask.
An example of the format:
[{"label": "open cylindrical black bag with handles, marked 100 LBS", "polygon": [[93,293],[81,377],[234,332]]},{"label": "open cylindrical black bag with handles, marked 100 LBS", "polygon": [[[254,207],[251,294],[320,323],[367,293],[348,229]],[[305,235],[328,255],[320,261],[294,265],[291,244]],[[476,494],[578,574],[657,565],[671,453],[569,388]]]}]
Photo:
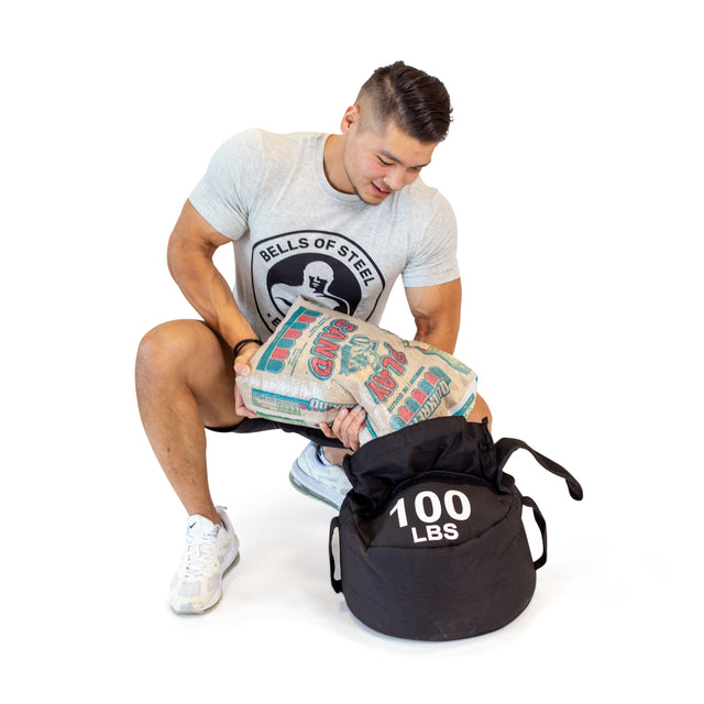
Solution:
[{"label": "open cylindrical black bag with handles, marked 100 LBS", "polygon": [[[521,441],[494,443],[485,424],[462,418],[411,426],[348,458],[352,491],[331,522],[330,569],[333,588],[362,623],[400,638],[452,640],[501,628],[526,608],[547,559],[547,534],[535,502],[503,472],[518,448],[582,498],[563,468]],[[524,505],[542,535],[536,561]]]}]

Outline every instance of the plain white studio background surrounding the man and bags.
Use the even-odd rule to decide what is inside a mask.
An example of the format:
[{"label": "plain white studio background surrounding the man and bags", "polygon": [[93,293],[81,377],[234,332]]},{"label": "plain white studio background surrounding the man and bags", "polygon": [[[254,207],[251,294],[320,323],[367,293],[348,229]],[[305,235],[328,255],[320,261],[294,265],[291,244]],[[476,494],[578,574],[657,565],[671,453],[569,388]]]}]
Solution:
[{"label": "plain white studio background surrounding the man and bags", "polygon": [[[700,3],[3,8],[0,691],[19,688],[4,701],[698,689]],[[460,224],[457,354],[495,437],[564,464],[585,498],[519,453],[509,471],[550,539],[530,606],[492,635],[402,641],[330,588],[332,510],[287,482],[302,441],[218,436],[212,492],[242,560],[213,612],[177,617],[165,597],[185,516],[133,389],[141,336],[194,315],[166,239],[223,140],[336,132],[371,72],[398,58],[442,78],[455,109],[424,178]],[[384,322],[413,336],[403,292]]]}]

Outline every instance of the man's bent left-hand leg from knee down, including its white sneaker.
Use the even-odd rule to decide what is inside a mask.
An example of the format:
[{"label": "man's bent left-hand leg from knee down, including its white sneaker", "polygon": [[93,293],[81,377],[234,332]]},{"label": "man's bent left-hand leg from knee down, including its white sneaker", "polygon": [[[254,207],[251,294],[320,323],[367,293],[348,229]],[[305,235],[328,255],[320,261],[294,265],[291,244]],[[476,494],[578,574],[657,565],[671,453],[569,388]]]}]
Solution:
[{"label": "man's bent left-hand leg from knee down, including its white sneaker", "polygon": [[170,583],[177,613],[202,613],[222,595],[240,543],[208,486],[205,426],[237,425],[232,352],[204,323],[167,322],[148,332],[136,359],[136,393],[154,453],[188,512],[186,547]]}]

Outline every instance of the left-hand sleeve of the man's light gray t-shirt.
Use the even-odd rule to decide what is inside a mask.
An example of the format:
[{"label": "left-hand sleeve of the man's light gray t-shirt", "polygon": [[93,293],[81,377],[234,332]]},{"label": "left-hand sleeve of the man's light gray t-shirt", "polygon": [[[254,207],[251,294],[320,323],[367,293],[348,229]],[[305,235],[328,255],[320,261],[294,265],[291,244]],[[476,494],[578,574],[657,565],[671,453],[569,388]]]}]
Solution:
[{"label": "left-hand sleeve of the man's light gray t-shirt", "polygon": [[199,215],[231,240],[249,230],[249,204],[255,185],[252,164],[256,163],[257,142],[257,131],[249,130],[220,145],[189,196]]}]

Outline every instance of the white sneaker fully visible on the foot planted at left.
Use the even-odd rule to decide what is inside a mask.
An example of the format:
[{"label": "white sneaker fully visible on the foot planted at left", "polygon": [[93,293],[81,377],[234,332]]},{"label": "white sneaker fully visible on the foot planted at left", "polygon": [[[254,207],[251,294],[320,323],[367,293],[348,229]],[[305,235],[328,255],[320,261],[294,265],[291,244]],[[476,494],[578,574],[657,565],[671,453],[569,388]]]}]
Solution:
[{"label": "white sneaker fully visible on the foot planted at left", "polygon": [[219,526],[205,516],[188,517],[186,549],[168,594],[170,607],[179,614],[212,608],[222,596],[222,575],[240,558],[240,541],[224,507],[217,509],[222,519]]}]

